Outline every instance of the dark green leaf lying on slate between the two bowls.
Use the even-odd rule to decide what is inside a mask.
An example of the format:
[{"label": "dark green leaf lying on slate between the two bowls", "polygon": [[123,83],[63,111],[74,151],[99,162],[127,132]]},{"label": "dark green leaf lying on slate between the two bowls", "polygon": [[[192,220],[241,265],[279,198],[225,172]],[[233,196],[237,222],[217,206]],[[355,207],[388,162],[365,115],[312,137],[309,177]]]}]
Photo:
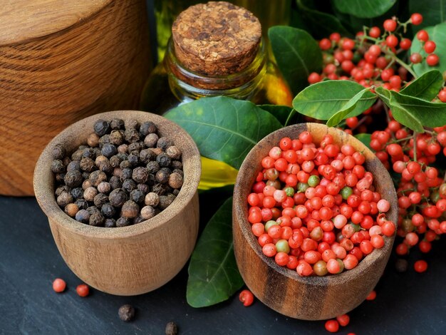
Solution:
[{"label": "dark green leaf lying on slate between the two bowls", "polygon": [[204,307],[228,299],[244,284],[232,242],[232,197],[204,228],[189,264],[187,303]]}]

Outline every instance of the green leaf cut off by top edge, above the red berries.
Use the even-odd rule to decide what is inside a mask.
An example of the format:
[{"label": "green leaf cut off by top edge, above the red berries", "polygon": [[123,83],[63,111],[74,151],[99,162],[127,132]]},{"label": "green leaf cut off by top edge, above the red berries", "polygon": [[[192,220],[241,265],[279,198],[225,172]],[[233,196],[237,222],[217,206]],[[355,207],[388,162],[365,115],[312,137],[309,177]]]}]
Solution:
[{"label": "green leaf cut off by top edge, above the red berries", "polygon": [[396,0],[333,0],[333,4],[344,14],[370,19],[388,11]]}]

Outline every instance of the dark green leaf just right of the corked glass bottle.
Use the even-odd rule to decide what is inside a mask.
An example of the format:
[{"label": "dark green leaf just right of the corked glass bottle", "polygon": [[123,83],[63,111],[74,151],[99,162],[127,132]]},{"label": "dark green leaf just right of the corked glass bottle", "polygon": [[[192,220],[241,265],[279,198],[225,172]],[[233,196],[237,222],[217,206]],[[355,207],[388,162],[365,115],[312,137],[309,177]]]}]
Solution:
[{"label": "dark green leaf just right of the corked glass bottle", "polygon": [[289,26],[271,27],[268,36],[277,65],[296,94],[308,86],[311,72],[321,71],[321,49],[309,33]]}]

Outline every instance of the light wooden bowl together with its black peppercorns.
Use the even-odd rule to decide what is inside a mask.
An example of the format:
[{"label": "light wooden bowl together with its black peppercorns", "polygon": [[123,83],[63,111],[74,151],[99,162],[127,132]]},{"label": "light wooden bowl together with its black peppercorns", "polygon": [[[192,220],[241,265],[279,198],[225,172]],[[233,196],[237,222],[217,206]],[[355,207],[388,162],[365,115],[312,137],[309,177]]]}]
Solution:
[{"label": "light wooden bowl together with its black peppercorns", "polygon": [[[110,123],[118,119],[124,121],[125,127],[130,124],[129,128],[136,130],[143,123],[154,124],[159,135],[157,140],[167,139],[167,144],[158,143],[162,148],[157,148],[157,140],[151,136],[147,138],[146,130],[144,136],[142,129],[126,133],[122,125],[115,126],[116,129],[121,127],[120,134],[115,135],[123,135],[125,140],[139,144],[131,143],[127,148],[117,145],[116,149],[116,145],[108,145],[116,138],[110,141],[110,135],[105,136],[106,139],[92,135],[95,124],[101,128],[98,120]],[[138,125],[132,126],[135,121]],[[101,129],[95,130],[101,134]],[[148,150],[150,153],[147,153],[144,140],[154,146]],[[85,145],[81,152],[78,151],[80,145]],[[100,151],[90,150],[89,145],[95,148],[99,145]],[[139,150],[135,148],[138,146]],[[142,148],[146,148],[144,153]],[[118,150],[125,152],[125,159],[113,162],[113,157],[119,156]],[[58,157],[58,151],[65,151],[73,160]],[[54,163],[55,157],[61,158],[66,166],[65,173],[56,173],[56,176],[53,171],[58,172],[61,167],[58,167],[60,163]],[[178,158],[175,164],[170,157]],[[157,172],[165,169],[164,172],[157,175],[155,170],[146,167],[145,163],[154,160],[159,165]],[[167,166],[165,160],[172,164],[170,168],[160,168]],[[109,166],[110,161],[115,167]],[[182,172],[175,172],[174,168],[182,168]],[[174,172],[177,176],[169,178]],[[68,267],[95,289],[128,296],[161,287],[180,272],[189,259],[198,232],[200,173],[197,146],[179,125],[151,113],[118,110],[80,120],[56,135],[36,164],[34,192]],[[170,187],[175,186],[175,182],[181,185],[177,189]],[[68,189],[66,183],[70,185]],[[96,205],[100,210],[94,208]],[[111,218],[116,212],[118,220]]]}]

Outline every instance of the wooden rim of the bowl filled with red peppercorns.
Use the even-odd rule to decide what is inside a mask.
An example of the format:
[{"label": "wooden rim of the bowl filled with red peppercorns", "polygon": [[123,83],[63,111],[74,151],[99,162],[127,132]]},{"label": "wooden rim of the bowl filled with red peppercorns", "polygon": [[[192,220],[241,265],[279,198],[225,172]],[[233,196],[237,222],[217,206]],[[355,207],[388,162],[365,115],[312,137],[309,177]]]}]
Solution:
[{"label": "wooden rim of the bowl filled with red peppercorns", "polygon": [[[307,128],[309,127],[309,129]],[[286,127],[280,128],[278,130],[275,130],[274,132],[270,133],[269,135],[266,135],[264,138],[262,138],[259,143],[254,145],[254,148],[251,148],[249,151],[247,157],[244,159],[244,162],[240,166],[239,174],[237,175],[237,180],[234,185],[234,198],[233,198],[233,215],[234,218],[237,220],[234,220],[234,225],[239,225],[239,228],[242,232],[242,235],[244,239],[248,242],[249,247],[254,250],[256,255],[261,259],[261,262],[266,264],[266,267],[269,267],[271,269],[274,269],[274,271],[278,272],[279,274],[282,274],[286,277],[289,277],[290,279],[293,279],[296,282],[300,282],[301,284],[306,285],[313,285],[316,287],[322,287],[326,286],[327,284],[331,285],[341,285],[345,284],[346,282],[350,281],[352,277],[358,277],[359,274],[367,271],[370,267],[373,267],[373,265],[380,261],[380,259],[383,259],[383,257],[390,257],[390,252],[393,247],[393,242],[395,241],[395,234],[396,234],[396,223],[398,220],[398,206],[395,208],[395,204],[398,205],[397,197],[395,188],[393,187],[392,190],[390,190],[390,197],[393,197],[393,200],[389,202],[393,206],[390,207],[390,211],[386,213],[386,216],[388,217],[388,220],[392,220],[395,224],[395,233],[392,237],[386,237],[383,235],[385,239],[385,245],[384,247],[380,249],[373,249],[373,252],[366,255],[366,257],[363,257],[360,262],[358,262],[358,265],[350,270],[344,270],[340,274],[327,274],[325,276],[317,276],[315,274],[311,274],[311,276],[308,277],[301,277],[299,274],[292,269],[288,269],[287,267],[281,267],[279,264],[276,264],[274,262],[274,259],[272,257],[266,257],[265,254],[261,251],[261,247],[259,242],[257,241],[254,234],[251,232],[251,225],[249,224],[247,220],[247,201],[246,198],[242,197],[244,194],[243,187],[247,187],[247,185],[250,185],[251,187],[252,183],[249,183],[249,179],[255,180],[254,175],[257,174],[258,171],[261,170],[260,167],[260,160],[256,160],[254,156],[254,151],[256,148],[264,147],[263,150],[268,153],[269,149],[271,149],[271,145],[269,145],[269,141],[274,140],[277,145],[279,145],[279,140],[284,137],[284,135],[280,135],[281,133],[284,133],[286,131],[295,131],[296,134],[301,133],[302,131],[308,130],[311,133],[311,130],[323,130],[324,133],[336,133],[341,138],[341,143],[343,143],[344,140],[354,142],[356,145],[358,145],[359,148],[361,148],[361,152],[365,155],[366,161],[364,165],[367,165],[370,160],[373,160],[375,163],[379,163],[380,169],[383,169],[383,172],[386,172],[386,175],[380,176],[381,178],[388,178],[391,181],[390,175],[388,174],[388,171],[385,169],[384,165],[380,163],[380,160],[375,156],[375,154],[366,146],[364,145],[360,140],[356,139],[354,136],[349,135],[342,130],[338,130],[336,128],[329,128],[326,125],[323,125],[321,123],[297,123],[294,125],[288,125]],[[299,133],[297,133],[299,132]],[[297,138],[297,136],[295,137]],[[258,163],[258,164],[256,164]],[[367,170],[367,169],[366,169]],[[245,178],[243,172],[250,172],[251,178]],[[374,178],[374,183],[376,182],[376,178]],[[393,184],[392,184],[393,185]],[[246,188],[245,188],[246,190]],[[247,194],[249,194],[250,188]],[[389,242],[388,242],[389,241]],[[234,246],[235,247],[235,246]]]}]

